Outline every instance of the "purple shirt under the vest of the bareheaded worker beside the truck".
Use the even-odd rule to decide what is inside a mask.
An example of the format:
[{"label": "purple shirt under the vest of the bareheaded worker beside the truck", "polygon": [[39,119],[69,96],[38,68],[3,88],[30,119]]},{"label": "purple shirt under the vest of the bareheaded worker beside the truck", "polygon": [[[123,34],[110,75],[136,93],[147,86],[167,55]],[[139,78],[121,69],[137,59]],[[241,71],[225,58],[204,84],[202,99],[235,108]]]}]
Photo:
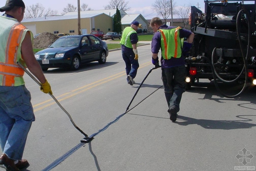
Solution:
[{"label": "purple shirt under the vest of the bareheaded worker beside the truck", "polygon": [[[160,26],[159,29],[173,29],[176,27],[168,27],[167,25],[163,25]],[[188,38],[191,35],[191,31],[186,30],[186,29],[180,29],[180,38]],[[152,38],[151,41],[151,52],[152,53],[158,53],[159,50],[161,49],[161,33],[160,32],[156,32]],[[184,56],[182,54],[182,56],[180,58],[170,58],[170,59],[164,59],[161,56],[161,66],[162,68],[171,68],[171,67],[176,67],[176,66],[181,66],[181,65],[185,65],[185,61],[184,61]]]}]

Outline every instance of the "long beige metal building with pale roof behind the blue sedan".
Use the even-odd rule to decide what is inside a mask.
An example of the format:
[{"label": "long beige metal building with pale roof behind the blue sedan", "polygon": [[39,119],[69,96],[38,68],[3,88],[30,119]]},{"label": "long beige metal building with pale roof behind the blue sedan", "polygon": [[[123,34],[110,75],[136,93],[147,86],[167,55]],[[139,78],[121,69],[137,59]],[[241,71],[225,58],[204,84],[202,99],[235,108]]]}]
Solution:
[{"label": "long beige metal building with pale roof behind the blue sedan", "polygon": [[[35,35],[37,33],[49,32],[78,34],[77,15],[62,15],[40,18],[24,18],[22,24]],[[81,33],[90,34],[92,30],[103,31],[104,33],[113,30],[113,17],[101,14],[81,14]]]}]

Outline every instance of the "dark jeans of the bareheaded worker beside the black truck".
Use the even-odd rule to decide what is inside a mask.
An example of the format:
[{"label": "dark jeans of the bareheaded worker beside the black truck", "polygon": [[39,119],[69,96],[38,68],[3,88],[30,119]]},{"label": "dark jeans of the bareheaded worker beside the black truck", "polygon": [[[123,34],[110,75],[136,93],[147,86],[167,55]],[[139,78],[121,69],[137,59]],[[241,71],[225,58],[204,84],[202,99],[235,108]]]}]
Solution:
[{"label": "dark jeans of the bareheaded worker beside the black truck", "polygon": [[182,93],[186,90],[185,79],[186,68],[184,65],[162,68],[162,81],[164,85],[165,98],[169,109],[174,109],[176,113],[180,111]]}]

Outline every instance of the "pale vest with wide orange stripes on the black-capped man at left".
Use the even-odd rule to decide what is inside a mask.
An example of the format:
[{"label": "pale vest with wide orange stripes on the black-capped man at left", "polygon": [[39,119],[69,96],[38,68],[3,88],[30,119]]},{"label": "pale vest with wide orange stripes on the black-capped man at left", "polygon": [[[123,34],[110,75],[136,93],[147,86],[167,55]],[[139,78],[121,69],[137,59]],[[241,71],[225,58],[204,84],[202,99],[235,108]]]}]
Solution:
[{"label": "pale vest with wide orange stripes on the black-capped man at left", "polygon": [[[0,16],[0,23],[0,86],[24,85],[24,70],[17,65],[17,61],[25,64],[21,43],[30,31],[15,18]],[[31,32],[30,35],[33,42]]]}]

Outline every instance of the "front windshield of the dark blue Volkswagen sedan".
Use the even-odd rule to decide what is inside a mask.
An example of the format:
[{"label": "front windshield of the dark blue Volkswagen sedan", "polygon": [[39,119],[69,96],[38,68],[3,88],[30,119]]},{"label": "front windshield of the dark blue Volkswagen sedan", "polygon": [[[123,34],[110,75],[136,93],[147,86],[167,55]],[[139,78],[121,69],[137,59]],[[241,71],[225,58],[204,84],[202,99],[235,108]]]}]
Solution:
[{"label": "front windshield of the dark blue Volkswagen sedan", "polygon": [[50,47],[78,46],[80,37],[60,37]]}]

